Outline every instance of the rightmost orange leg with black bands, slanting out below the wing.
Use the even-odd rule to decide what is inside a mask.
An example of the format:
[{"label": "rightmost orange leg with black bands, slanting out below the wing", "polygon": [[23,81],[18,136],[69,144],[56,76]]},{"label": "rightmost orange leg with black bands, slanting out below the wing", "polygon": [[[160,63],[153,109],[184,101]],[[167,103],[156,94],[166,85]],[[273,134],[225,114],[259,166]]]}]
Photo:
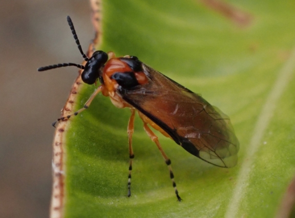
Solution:
[{"label": "rightmost orange leg with black bands, slanting out below the wing", "polygon": [[177,200],[178,201],[181,201],[182,199],[179,197],[178,195],[178,190],[177,190],[177,187],[176,187],[176,183],[174,181],[174,174],[173,174],[173,171],[172,171],[172,167],[171,167],[171,160],[167,157],[167,155],[165,154],[165,152],[163,151],[162,147],[161,147],[161,144],[158,140],[158,137],[155,135],[155,133],[150,129],[149,126],[147,126],[147,123],[143,123],[143,129],[145,130],[145,132],[147,133],[147,135],[150,136],[150,138],[152,139],[152,141],[154,141],[158,147],[158,149],[160,150],[164,160],[165,160],[165,163],[167,164],[168,166],[168,169],[169,169],[169,172],[170,172],[170,178],[171,178],[171,181],[172,181],[172,185],[174,187],[174,190],[175,190],[175,194],[176,194],[176,197],[177,197]]}]

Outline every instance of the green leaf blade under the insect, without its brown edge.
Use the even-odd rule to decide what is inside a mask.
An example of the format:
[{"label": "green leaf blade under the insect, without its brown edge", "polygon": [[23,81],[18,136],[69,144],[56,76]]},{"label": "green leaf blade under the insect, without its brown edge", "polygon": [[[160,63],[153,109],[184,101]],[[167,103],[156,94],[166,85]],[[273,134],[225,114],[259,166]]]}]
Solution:
[{"label": "green leaf blade under the insect, without its brown edge", "polygon": [[[99,50],[137,56],[229,115],[238,165],[210,165],[156,132],[172,160],[177,202],[137,116],[127,198],[130,111],[99,94],[65,132],[65,217],[275,216],[295,171],[295,4],[227,1],[250,14],[241,26],[204,2],[103,1]],[[82,85],[76,110],[94,89]]]}]

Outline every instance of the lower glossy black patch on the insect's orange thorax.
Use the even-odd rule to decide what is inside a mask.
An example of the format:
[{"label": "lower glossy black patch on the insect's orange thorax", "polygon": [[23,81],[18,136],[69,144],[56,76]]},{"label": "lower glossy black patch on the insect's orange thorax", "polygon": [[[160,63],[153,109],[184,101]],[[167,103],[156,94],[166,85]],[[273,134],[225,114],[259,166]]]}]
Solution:
[{"label": "lower glossy black patch on the insect's orange thorax", "polygon": [[116,80],[116,82],[125,89],[139,85],[134,72],[115,72],[111,79]]}]

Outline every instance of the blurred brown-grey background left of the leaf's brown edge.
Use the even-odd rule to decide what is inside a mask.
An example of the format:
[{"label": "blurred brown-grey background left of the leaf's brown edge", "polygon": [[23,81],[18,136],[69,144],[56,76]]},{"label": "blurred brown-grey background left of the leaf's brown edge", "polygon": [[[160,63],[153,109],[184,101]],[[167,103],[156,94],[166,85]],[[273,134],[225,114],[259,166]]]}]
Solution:
[{"label": "blurred brown-grey background left of the leaf's brown edge", "polygon": [[88,0],[1,0],[0,217],[48,217],[54,128],[77,69],[40,66],[81,63],[67,23],[82,48],[94,30]]}]

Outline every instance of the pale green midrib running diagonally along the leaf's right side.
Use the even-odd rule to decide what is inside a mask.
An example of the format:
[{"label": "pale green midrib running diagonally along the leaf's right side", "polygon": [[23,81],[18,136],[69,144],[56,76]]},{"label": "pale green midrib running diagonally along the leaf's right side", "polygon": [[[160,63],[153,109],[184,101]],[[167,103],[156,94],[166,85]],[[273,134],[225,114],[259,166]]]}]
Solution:
[{"label": "pale green midrib running diagonally along the leaf's right side", "polygon": [[243,159],[240,171],[238,173],[236,186],[226,209],[225,217],[237,217],[238,209],[240,208],[239,204],[242,197],[245,196],[244,193],[246,192],[247,184],[249,184],[248,180],[250,178],[251,165],[254,162],[255,154],[262,144],[260,142],[265,134],[265,130],[270,123],[272,114],[275,112],[278,101],[283,95],[284,90],[288,86],[288,83],[291,81],[291,77],[293,76],[294,72],[295,47],[293,48],[289,59],[287,59],[279,71],[278,77],[270,89],[265,104],[263,105],[260,115],[258,116],[251,140],[247,146],[248,149],[246,156]]}]

